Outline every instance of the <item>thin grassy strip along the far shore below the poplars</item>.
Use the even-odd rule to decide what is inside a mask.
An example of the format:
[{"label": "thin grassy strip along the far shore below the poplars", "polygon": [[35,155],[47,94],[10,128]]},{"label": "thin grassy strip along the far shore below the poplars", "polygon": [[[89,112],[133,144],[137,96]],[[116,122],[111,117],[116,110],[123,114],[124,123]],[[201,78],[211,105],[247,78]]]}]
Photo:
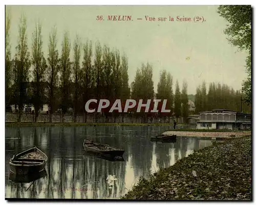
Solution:
[{"label": "thin grassy strip along the far shore below the poplars", "polygon": [[168,123],[5,122],[5,126],[173,126]]}]

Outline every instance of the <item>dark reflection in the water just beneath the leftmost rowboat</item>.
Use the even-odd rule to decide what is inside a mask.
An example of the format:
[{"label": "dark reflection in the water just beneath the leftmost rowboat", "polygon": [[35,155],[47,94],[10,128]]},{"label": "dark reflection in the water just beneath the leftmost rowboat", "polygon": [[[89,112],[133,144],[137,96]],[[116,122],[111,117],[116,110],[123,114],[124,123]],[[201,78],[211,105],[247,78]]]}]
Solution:
[{"label": "dark reflection in the water just beneath the leftmost rowboat", "polygon": [[43,169],[42,171],[31,174],[15,174],[10,172],[9,178],[15,183],[30,183],[39,180],[39,178],[45,176],[47,176],[47,172],[45,169]]}]

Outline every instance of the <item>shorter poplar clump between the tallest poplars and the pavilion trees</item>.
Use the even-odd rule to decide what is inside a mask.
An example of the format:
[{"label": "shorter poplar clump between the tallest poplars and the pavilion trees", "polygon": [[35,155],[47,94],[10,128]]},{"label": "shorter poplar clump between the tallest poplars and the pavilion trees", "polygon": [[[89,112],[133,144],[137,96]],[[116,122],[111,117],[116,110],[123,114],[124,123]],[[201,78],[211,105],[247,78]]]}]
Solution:
[{"label": "shorter poplar clump between the tallest poplars and the pavilion trees", "polygon": [[[157,85],[157,93],[154,96],[154,83],[153,83],[153,68],[150,64],[142,64],[141,69],[137,69],[135,80],[132,83],[132,99],[144,99],[143,103],[146,104],[147,99],[151,100],[150,111],[154,110],[154,98],[161,100],[158,101],[157,113],[150,112],[144,114],[144,119],[153,118],[155,116],[163,118],[183,117],[186,119],[189,115],[187,83],[183,82],[182,92],[180,92],[179,83],[176,82],[175,93],[173,92],[173,76],[166,70],[160,71],[160,79]],[[166,100],[164,102],[164,100]],[[165,110],[162,110],[165,108]],[[136,107],[135,107],[136,109]],[[167,111],[168,110],[168,111]],[[142,113],[135,113],[135,115],[143,115]],[[187,121],[187,120],[186,120]]]}]

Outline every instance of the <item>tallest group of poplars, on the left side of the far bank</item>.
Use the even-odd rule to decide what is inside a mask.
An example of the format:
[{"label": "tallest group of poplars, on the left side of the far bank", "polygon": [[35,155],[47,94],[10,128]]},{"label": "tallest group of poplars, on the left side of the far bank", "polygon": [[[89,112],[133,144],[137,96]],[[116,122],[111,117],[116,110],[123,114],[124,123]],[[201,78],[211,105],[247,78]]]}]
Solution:
[{"label": "tallest group of poplars, on the left side of the far bank", "polygon": [[[6,109],[15,105],[18,121],[25,104],[34,106],[35,121],[39,109],[45,104],[49,107],[50,122],[56,110],[61,110],[63,120],[63,115],[70,108],[73,110],[75,121],[77,113],[84,113],[88,99],[130,98],[128,59],[125,54],[120,55],[119,50],[101,46],[97,42],[93,62],[92,42],[82,44],[77,35],[71,46],[69,32],[66,31],[59,54],[57,29],[54,27],[49,34],[48,54],[45,58],[42,52],[42,27],[41,23],[37,22],[32,34],[30,53],[27,19],[22,16],[18,26],[16,53],[11,61],[9,15],[6,15],[6,24]],[[70,60],[72,48],[73,61]]]}]

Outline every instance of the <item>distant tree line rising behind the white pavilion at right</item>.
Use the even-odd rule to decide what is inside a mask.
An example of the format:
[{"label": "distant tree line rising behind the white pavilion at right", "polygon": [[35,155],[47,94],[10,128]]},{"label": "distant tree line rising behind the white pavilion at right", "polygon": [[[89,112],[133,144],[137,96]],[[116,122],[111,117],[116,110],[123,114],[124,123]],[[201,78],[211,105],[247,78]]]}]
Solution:
[{"label": "distant tree line rising behind the white pavilion at right", "polygon": [[195,96],[195,113],[210,111],[213,109],[227,109],[234,111],[241,111],[241,97],[242,97],[242,111],[251,112],[250,105],[247,104],[245,94],[239,90],[234,90],[225,84],[210,83],[208,91],[206,83],[203,82],[197,87]]}]

